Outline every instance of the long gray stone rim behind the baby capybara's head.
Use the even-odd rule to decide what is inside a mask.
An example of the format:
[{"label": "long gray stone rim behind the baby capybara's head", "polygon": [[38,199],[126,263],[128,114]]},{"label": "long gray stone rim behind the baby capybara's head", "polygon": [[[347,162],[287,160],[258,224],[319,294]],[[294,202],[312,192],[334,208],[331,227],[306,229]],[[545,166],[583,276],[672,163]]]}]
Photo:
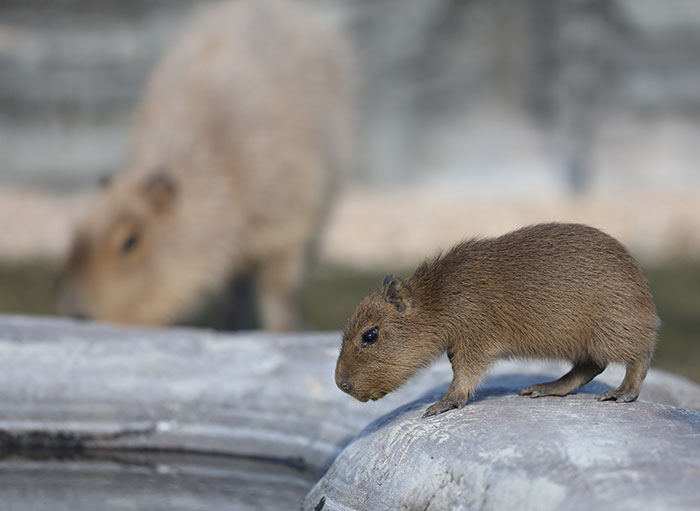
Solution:
[{"label": "long gray stone rim behind the baby capybara's head", "polygon": [[227,335],[0,316],[0,432],[5,442],[283,459],[320,474],[370,421],[449,374],[437,365],[363,405],[335,386],[339,346],[337,333]]}]

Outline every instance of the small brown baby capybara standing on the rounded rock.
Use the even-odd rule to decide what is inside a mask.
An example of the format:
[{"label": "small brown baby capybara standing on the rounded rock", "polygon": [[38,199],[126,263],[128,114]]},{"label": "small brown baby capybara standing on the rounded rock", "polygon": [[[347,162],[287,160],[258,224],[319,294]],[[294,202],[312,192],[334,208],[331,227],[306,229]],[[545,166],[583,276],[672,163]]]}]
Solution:
[{"label": "small brown baby capybara standing on the rounded rock", "polygon": [[[363,346],[373,327],[376,342]],[[336,382],[378,399],[447,351],[454,378],[429,416],[465,405],[497,358],[543,357],[573,369],[521,394],[566,395],[617,362],[625,379],[599,399],[632,401],[658,327],[647,281],[617,240],[585,225],[534,225],[460,243],[405,281],[387,277],[348,320]]]}]

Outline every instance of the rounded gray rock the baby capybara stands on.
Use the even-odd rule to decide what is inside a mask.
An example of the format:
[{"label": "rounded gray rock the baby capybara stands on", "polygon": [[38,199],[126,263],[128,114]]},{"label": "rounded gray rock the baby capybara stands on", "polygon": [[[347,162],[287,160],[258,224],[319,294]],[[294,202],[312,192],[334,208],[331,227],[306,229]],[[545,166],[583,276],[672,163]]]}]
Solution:
[{"label": "rounded gray rock the baby capybara stands on", "polygon": [[700,509],[700,413],[500,382],[461,410],[421,419],[435,393],[373,422],[303,509]]}]

